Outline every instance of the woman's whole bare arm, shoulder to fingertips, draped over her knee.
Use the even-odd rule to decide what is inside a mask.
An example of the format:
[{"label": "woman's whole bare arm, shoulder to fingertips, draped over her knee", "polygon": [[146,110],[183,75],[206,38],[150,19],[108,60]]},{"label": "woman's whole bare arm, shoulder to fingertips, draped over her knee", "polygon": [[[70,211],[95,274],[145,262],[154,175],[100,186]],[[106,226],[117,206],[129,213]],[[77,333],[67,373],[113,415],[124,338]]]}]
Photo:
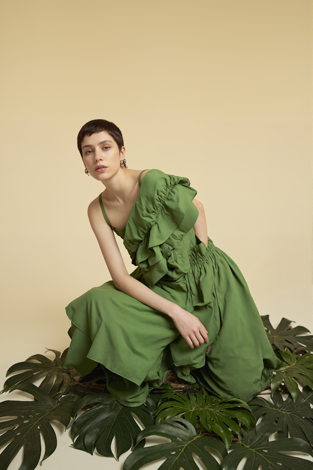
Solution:
[{"label": "woman's whole bare arm, shoulder to fingertips, draped over her knee", "polygon": [[103,217],[97,198],[89,205],[88,216],[115,287],[143,304],[169,315],[192,349],[194,345],[199,347],[204,341],[208,343],[207,331],[197,317],[128,274],[113,231]]}]

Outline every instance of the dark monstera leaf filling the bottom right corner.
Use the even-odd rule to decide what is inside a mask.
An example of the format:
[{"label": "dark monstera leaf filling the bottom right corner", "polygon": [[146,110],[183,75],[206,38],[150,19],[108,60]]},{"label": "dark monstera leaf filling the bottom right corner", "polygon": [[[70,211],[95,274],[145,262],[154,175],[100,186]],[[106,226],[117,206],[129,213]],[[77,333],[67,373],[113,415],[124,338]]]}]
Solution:
[{"label": "dark monstera leaf filling the bottom right corner", "polygon": [[[280,452],[305,452],[312,455],[310,445],[298,438],[268,442],[268,437],[279,430],[275,424],[260,423],[249,431],[243,430],[244,438],[233,444],[223,460],[224,470],[236,470],[244,457],[247,457],[243,470],[312,470],[309,460],[281,454]],[[279,433],[278,433],[279,434]]]}]

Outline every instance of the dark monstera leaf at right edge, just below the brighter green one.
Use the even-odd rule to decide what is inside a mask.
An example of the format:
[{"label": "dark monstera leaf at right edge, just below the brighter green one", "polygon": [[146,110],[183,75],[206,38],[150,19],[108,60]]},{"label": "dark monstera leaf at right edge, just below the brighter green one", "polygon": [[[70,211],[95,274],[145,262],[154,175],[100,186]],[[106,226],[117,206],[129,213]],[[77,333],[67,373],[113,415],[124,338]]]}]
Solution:
[{"label": "dark monstera leaf at right edge, just below the brighter green one", "polygon": [[278,439],[288,439],[289,431],[291,437],[304,439],[313,445],[313,422],[309,419],[313,418],[313,409],[306,401],[306,394],[299,392],[294,403],[290,396],[284,401],[280,393],[275,393],[273,402],[271,404],[258,397],[252,399],[249,405],[257,420],[264,415],[262,423],[277,423],[283,429],[278,433]]}]

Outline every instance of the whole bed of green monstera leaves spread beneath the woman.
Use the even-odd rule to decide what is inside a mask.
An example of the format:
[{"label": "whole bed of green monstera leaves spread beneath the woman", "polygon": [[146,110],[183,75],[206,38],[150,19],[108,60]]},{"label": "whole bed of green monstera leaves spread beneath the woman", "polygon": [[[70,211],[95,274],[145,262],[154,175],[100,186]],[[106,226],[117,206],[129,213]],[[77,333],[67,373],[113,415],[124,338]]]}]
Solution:
[{"label": "whole bed of green monstera leaves spread beneath the woman", "polygon": [[[103,456],[114,457],[114,435],[117,460],[131,448],[124,470],[137,470],[164,458],[162,470],[198,470],[193,455],[207,470],[236,470],[245,456],[245,470],[257,470],[260,465],[263,470],[311,469],[312,462],[282,452],[312,455],[312,337],[304,327],[291,328],[287,319],[282,319],[277,329],[268,316],[263,322],[279,359],[271,392],[264,392],[271,394],[272,402],[261,396],[249,403],[213,397],[205,391],[201,376],[194,374],[196,383],[186,384],[171,371],[162,386],[150,387],[143,405],[127,407],[107,392],[100,365],[80,378],[76,371],[63,369],[67,350],[62,355],[50,350],[55,353],[52,361],[35,354],[14,364],[7,375],[15,375],[7,379],[3,392],[22,390],[34,401],[0,403],[0,416],[10,418],[0,423],[0,446],[6,446],[0,454],[0,470],[7,469],[21,447],[20,469],[34,470],[41,455],[40,433],[45,441],[44,460],[57,444],[50,421],[67,427],[70,418],[74,421],[71,436],[76,449],[90,454],[96,449]],[[32,382],[38,378],[42,382],[36,387]],[[302,392],[298,383],[304,386]],[[142,431],[134,417],[145,427]],[[262,421],[256,426],[257,420]],[[278,440],[269,442],[277,431]],[[144,447],[149,436],[166,437],[171,442]],[[219,462],[213,456],[216,452]]]}]

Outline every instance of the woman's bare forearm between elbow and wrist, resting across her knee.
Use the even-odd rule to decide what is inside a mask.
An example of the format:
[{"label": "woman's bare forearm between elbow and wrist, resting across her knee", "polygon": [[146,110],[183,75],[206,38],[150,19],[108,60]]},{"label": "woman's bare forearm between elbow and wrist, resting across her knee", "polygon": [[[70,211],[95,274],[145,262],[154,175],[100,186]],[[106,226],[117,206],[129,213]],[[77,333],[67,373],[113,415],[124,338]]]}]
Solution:
[{"label": "woman's bare forearm between elbow and wrist, resting across her knee", "polygon": [[115,287],[128,294],[143,304],[149,305],[156,310],[165,313],[171,318],[175,317],[180,310],[179,305],[174,304],[160,295],[156,294],[153,290],[149,289],[145,284],[137,281],[129,274],[123,276],[118,283],[114,282]]}]

